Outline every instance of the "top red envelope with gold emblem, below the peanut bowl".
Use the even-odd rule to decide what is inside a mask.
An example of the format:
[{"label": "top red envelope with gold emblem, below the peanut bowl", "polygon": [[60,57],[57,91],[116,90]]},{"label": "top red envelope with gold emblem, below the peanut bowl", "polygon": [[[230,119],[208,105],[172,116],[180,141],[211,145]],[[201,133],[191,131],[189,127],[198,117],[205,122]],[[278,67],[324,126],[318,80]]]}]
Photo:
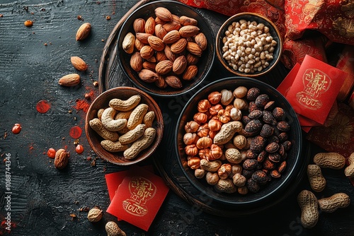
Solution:
[{"label": "top red envelope with gold emblem, below the peanut bowl", "polygon": [[118,187],[107,212],[147,231],[168,192],[169,187],[161,177],[133,166]]}]

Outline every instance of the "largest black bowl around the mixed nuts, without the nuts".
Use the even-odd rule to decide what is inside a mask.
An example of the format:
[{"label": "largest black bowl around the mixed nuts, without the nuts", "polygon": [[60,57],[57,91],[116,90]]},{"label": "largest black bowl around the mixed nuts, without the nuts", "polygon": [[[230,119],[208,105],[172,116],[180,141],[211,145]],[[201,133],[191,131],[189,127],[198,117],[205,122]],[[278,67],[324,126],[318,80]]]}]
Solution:
[{"label": "largest black bowl around the mixed nuts, without the nuts", "polygon": [[[185,155],[185,143],[183,143],[183,135],[185,134],[185,124],[193,120],[193,114],[198,112],[198,102],[203,99],[207,99],[208,94],[213,91],[221,91],[223,89],[234,90],[238,86],[245,86],[246,88],[259,88],[261,93],[266,93],[269,95],[270,100],[276,102],[277,107],[282,107],[286,112],[285,121],[287,121],[291,129],[289,131],[289,140],[292,142],[292,147],[290,151],[287,152],[287,167],[285,172],[283,172],[279,179],[273,179],[265,186],[261,187],[261,190],[252,193],[249,192],[246,195],[241,195],[238,192],[233,194],[227,194],[224,192],[217,191],[212,185],[207,184],[205,178],[197,179],[194,175],[194,170],[188,167],[188,157]],[[243,112],[243,114],[245,114]],[[178,158],[178,163],[181,165],[181,169],[188,179],[190,184],[196,189],[206,194],[205,196],[210,196],[213,201],[223,203],[227,206],[233,206],[237,210],[247,209],[251,211],[252,208],[265,208],[268,205],[277,202],[287,195],[287,191],[297,180],[299,172],[303,171],[303,165],[305,158],[300,156],[302,152],[302,131],[297,119],[297,115],[292,109],[291,105],[287,100],[270,85],[258,81],[254,78],[245,77],[232,77],[232,78],[222,78],[219,81],[215,81],[205,86],[199,90],[192,98],[187,102],[180,117],[178,118],[176,126],[176,154]],[[301,170],[301,171],[300,171]],[[243,210],[242,210],[243,211]]]}]

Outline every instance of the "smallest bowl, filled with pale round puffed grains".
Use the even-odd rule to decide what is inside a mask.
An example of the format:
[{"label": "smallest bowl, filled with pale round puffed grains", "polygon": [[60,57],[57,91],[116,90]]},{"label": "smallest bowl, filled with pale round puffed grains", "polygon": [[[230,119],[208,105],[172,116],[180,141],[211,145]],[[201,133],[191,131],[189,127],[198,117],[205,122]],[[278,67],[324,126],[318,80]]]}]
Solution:
[{"label": "smallest bowl, filled with pale round puffed grains", "polygon": [[263,76],[280,61],[282,36],[270,19],[238,13],[219,28],[216,52],[227,71],[237,76]]}]

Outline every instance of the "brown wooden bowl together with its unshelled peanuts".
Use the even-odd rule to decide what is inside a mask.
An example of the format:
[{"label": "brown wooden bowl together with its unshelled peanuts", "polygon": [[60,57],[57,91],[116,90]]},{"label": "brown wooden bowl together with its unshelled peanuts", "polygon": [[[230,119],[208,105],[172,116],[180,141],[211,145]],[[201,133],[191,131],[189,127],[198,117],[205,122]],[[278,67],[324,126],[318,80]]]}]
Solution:
[{"label": "brown wooden bowl together with its unshelled peanuts", "polygon": [[93,151],[116,165],[132,165],[156,151],[164,133],[159,105],[137,88],[101,93],[86,114],[86,137]]}]

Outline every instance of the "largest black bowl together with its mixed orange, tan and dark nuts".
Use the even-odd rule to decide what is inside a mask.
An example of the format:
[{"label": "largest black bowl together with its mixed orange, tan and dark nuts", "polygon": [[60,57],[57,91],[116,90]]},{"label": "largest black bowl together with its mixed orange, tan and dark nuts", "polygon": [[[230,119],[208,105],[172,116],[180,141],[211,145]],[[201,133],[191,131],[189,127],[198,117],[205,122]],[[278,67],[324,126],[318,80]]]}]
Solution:
[{"label": "largest black bowl together with its mixed orange, tan and dark nuts", "polygon": [[222,78],[190,98],[178,118],[176,152],[193,187],[247,208],[285,196],[305,160],[290,103],[272,86],[246,77]]}]

